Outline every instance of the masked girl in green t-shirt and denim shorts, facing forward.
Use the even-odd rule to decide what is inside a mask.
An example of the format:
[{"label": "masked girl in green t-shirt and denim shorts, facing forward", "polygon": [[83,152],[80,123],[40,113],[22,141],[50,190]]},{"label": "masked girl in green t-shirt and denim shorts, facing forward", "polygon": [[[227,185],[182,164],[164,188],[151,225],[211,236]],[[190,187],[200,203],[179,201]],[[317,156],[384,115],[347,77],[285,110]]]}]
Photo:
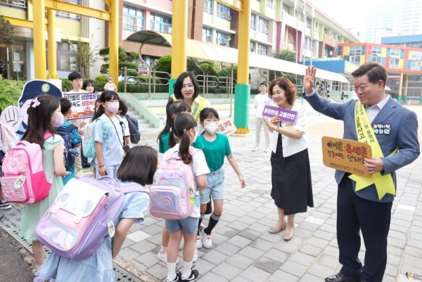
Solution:
[{"label": "masked girl in green t-shirt and denim shorts, facing forward", "polygon": [[[241,169],[239,169],[234,155],[231,153],[230,143],[227,136],[216,133],[219,116],[217,110],[205,108],[200,112],[200,124],[204,127],[205,133],[198,137],[196,148],[201,148],[207,160],[210,174],[207,175],[207,188],[200,191],[200,217],[198,222],[198,236],[196,238],[196,248],[212,248],[211,231],[217,225],[223,212],[223,191],[224,191],[224,156],[229,160],[231,167],[241,181],[241,188],[245,188],[246,182],[243,178]],[[211,214],[208,226],[200,228],[205,214],[207,203],[210,202],[210,196],[214,203],[214,211]]]}]

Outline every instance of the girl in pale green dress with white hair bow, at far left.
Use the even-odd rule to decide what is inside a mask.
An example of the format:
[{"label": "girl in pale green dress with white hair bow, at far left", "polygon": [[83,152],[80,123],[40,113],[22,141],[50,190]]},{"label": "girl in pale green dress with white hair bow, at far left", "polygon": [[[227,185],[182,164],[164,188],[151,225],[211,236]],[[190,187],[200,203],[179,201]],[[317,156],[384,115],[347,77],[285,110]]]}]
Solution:
[{"label": "girl in pale green dress with white hair bow, at far left", "polygon": [[[47,198],[22,207],[20,236],[28,242],[32,241],[32,252],[37,267],[37,271],[34,274],[34,282],[44,281],[44,279],[39,278],[39,271],[41,271],[44,264],[44,247],[35,237],[35,227],[39,219],[56,200],[58,193],[63,188],[62,177],[66,175],[63,163],[63,138],[56,134],[54,130],[54,127],[62,126],[63,122],[64,118],[62,113],[60,113],[60,101],[58,98],[46,94],[39,95],[34,98],[30,108],[28,108],[28,127],[21,139],[21,141],[37,143],[41,146],[42,164],[46,179],[48,181],[51,179],[51,188]],[[47,132],[53,134],[53,136],[45,139],[44,134]]]}]

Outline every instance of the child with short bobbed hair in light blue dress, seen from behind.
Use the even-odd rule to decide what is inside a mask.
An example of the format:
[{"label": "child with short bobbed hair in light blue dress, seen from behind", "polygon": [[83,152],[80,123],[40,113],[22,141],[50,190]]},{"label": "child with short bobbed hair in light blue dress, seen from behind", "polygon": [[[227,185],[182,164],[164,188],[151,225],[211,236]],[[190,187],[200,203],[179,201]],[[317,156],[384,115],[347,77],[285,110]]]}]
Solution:
[{"label": "child with short bobbed hair in light blue dress, seen from behind", "polygon": [[[118,187],[124,191],[126,186],[129,191],[132,191],[134,184],[150,186],[153,184],[157,166],[156,150],[148,146],[135,146],[124,156],[117,171],[117,179],[120,181]],[[143,212],[148,208],[148,204],[148,193],[142,191],[124,193],[124,200],[119,211],[113,219],[110,219],[110,224],[108,223],[110,236],[90,257],[70,259],[60,256],[58,252],[51,252],[39,277],[50,279],[50,282],[114,282],[113,259],[122,248],[132,224],[143,222]]]}]

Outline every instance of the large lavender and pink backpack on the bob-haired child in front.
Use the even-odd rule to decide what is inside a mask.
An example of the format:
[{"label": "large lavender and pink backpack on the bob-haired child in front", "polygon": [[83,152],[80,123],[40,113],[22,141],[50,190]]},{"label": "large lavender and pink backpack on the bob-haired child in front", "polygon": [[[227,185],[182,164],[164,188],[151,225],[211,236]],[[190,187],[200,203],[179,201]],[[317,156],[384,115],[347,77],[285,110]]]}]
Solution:
[{"label": "large lavender and pink backpack on the bob-haired child in front", "polygon": [[37,224],[41,243],[70,259],[86,259],[114,234],[124,194],[146,192],[140,184],[119,186],[111,177],[70,179]]}]

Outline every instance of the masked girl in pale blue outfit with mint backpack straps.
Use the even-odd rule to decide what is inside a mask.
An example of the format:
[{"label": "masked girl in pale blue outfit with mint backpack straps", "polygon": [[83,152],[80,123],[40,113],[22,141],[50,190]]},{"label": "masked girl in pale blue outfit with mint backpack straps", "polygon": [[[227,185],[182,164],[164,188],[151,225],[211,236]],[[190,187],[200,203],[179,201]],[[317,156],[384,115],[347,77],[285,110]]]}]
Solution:
[{"label": "masked girl in pale blue outfit with mint backpack straps", "polygon": [[[98,120],[94,125],[96,178],[108,175],[117,179],[117,169],[124,157],[123,146],[128,145],[124,136],[129,128],[115,113],[119,110],[119,96],[114,91],[104,91],[100,97]],[[103,139],[103,124],[108,124],[108,136]]]}]

